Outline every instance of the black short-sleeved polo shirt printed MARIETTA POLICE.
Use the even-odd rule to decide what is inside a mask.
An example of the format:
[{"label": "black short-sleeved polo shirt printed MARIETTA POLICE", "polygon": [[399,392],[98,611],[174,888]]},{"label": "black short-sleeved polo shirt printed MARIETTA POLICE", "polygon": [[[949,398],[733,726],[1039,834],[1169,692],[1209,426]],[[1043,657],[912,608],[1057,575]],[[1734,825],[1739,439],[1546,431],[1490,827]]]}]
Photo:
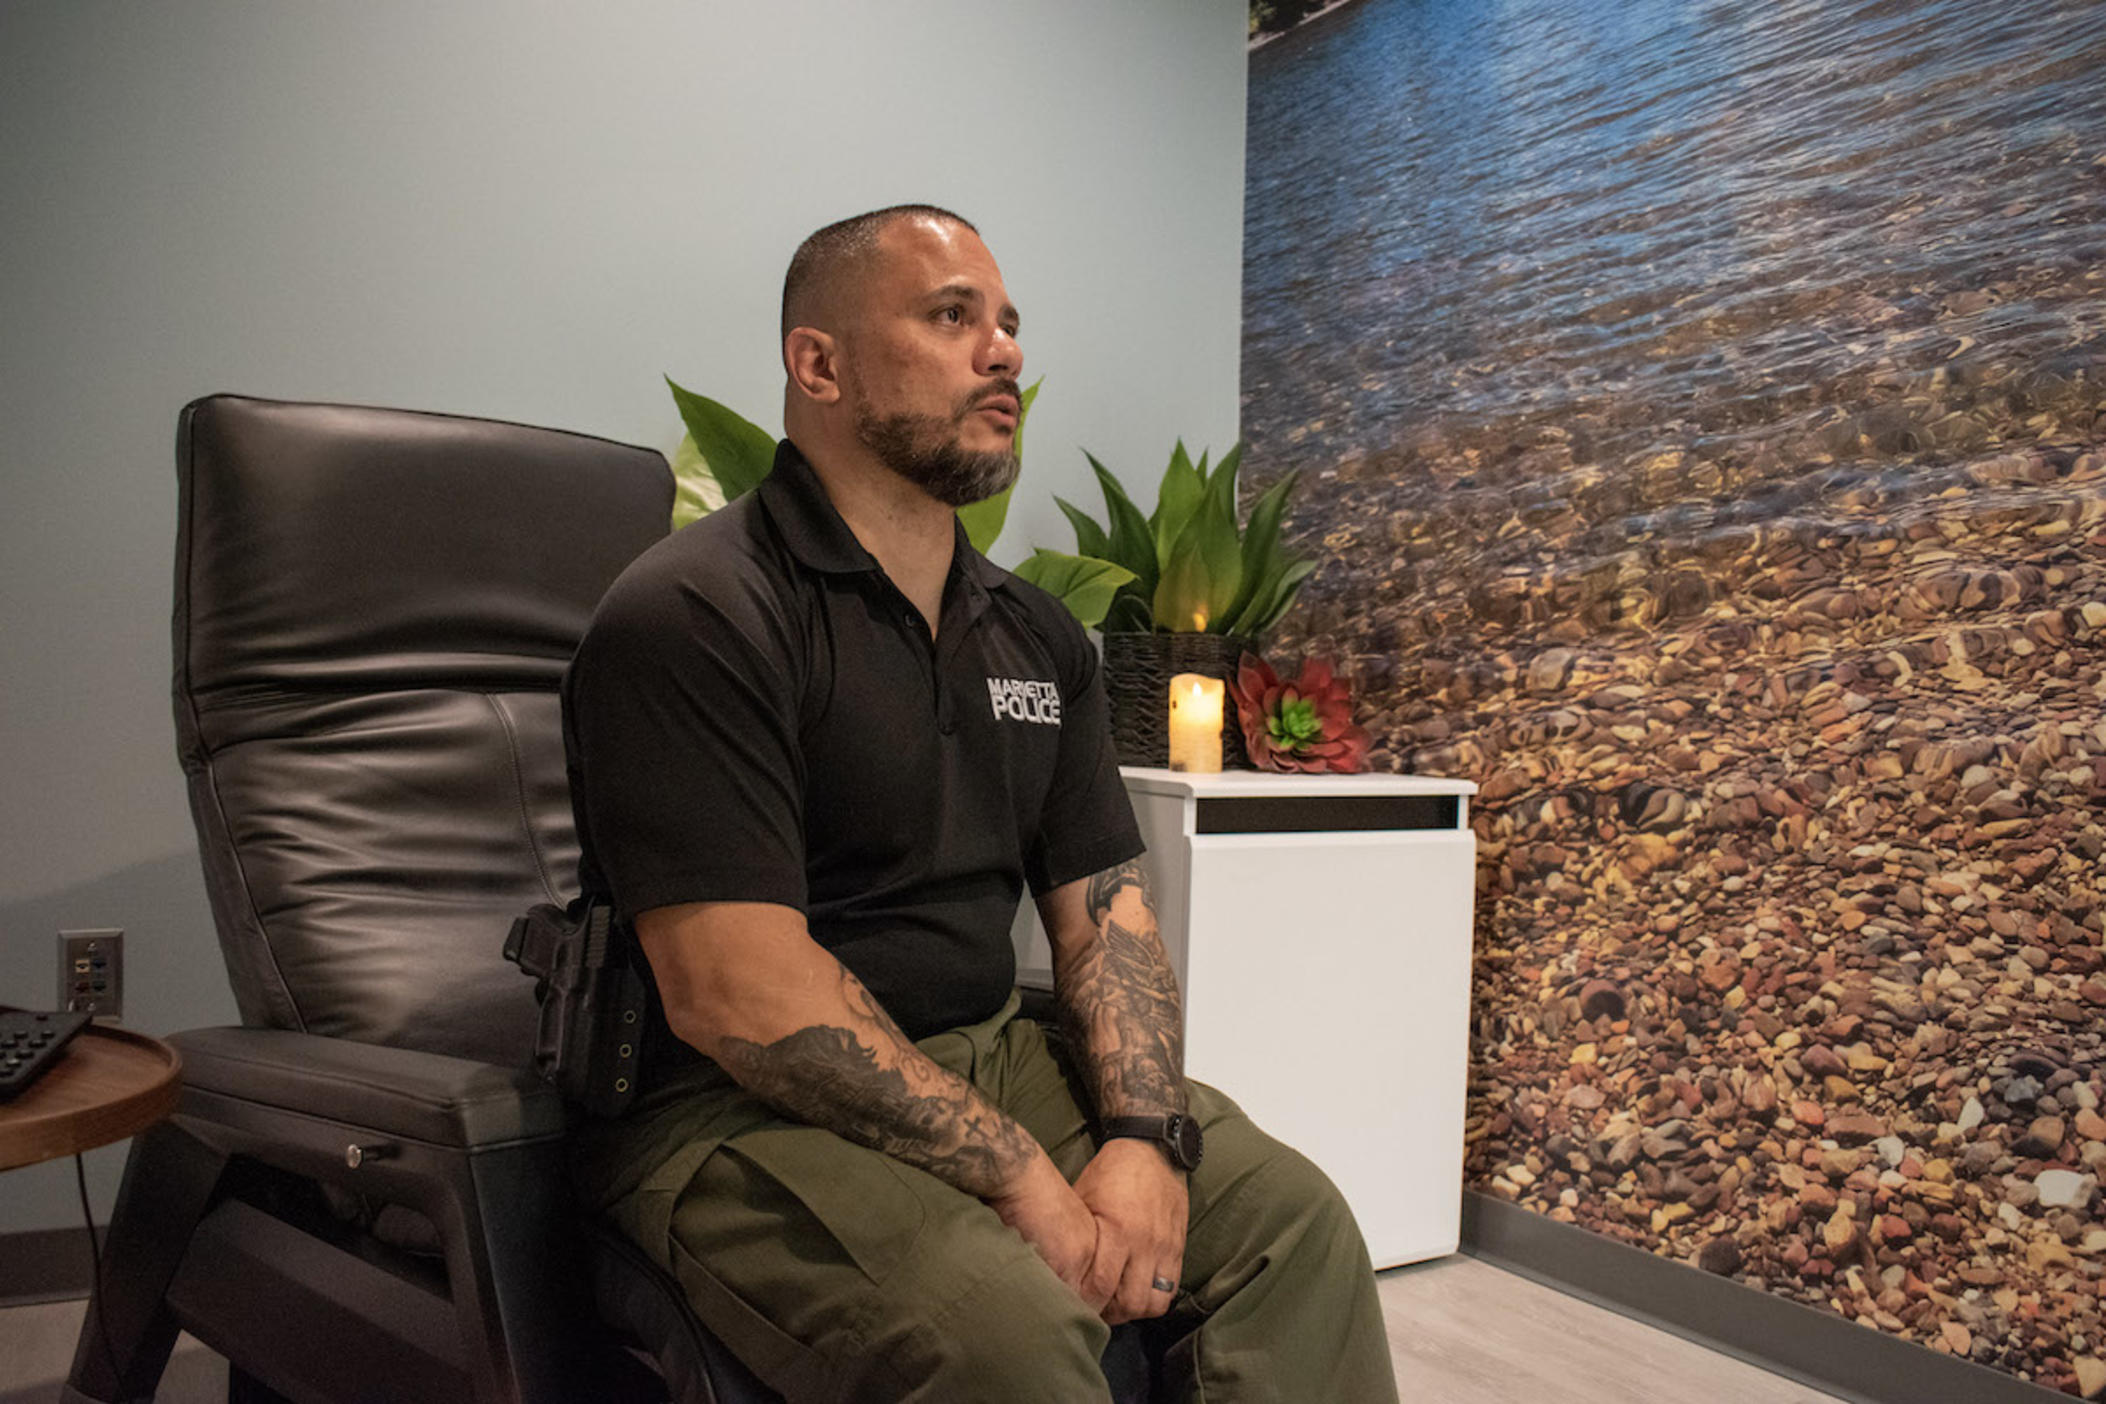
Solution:
[{"label": "black short-sleeved polo shirt printed MARIETTA POLICE", "polygon": [[912,1038],[992,1015],[1024,886],[1144,844],[1074,617],[960,526],[937,629],[781,444],[623,570],[564,676],[585,886],[796,907]]}]

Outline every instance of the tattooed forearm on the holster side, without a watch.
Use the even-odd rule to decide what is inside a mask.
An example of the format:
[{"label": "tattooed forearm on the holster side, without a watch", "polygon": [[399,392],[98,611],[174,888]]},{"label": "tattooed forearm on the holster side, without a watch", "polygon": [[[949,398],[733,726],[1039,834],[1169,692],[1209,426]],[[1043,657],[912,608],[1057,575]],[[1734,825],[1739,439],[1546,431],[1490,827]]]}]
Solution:
[{"label": "tattooed forearm on the holster side, without a watch", "polygon": [[937,1067],[847,968],[851,1019],[769,1044],[724,1038],[718,1063],[750,1092],[813,1126],[929,1170],[977,1198],[998,1194],[1036,1143],[973,1084]]}]

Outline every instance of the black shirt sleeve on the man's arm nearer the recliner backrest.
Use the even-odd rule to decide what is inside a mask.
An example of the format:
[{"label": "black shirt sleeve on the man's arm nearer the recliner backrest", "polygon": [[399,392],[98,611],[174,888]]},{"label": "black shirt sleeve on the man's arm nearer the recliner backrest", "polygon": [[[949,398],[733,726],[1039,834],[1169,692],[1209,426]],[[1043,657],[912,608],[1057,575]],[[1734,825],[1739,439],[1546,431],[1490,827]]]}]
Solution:
[{"label": "black shirt sleeve on the man's arm nearer the recliner backrest", "polygon": [[800,655],[727,594],[623,577],[564,676],[583,876],[630,918],[689,901],[804,909]]}]

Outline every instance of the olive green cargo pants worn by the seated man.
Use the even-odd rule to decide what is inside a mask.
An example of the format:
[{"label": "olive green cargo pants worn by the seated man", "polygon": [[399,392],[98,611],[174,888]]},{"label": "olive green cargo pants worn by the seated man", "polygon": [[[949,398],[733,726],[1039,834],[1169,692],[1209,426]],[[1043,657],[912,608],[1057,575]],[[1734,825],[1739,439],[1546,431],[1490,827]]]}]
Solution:
[{"label": "olive green cargo pants worn by the seated man", "polygon": [[[1015,1118],[1074,1179],[1080,1084],[1015,1000],[922,1052]],[[1163,1398],[1396,1400],[1367,1246],[1323,1170],[1190,1086],[1207,1154],[1184,1280],[1160,1322]],[[790,1122],[714,1067],[579,1137],[579,1187],[792,1404],[1108,1400],[1110,1328],[986,1204]]]}]

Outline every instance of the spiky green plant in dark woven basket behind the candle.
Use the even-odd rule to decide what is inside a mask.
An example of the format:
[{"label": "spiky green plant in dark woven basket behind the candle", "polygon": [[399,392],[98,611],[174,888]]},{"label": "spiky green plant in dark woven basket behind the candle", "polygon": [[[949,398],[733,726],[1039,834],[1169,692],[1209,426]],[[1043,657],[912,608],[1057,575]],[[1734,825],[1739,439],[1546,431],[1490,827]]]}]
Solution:
[{"label": "spiky green plant in dark woven basket behind the candle", "polygon": [[[1059,497],[1053,501],[1074,526],[1080,558],[1106,560],[1131,575],[1112,591],[1104,615],[1112,735],[1125,764],[1160,766],[1167,760],[1169,680],[1203,674],[1228,682],[1243,653],[1278,623],[1316,568],[1314,560],[1280,547],[1280,514],[1295,474],[1259,495],[1238,528],[1243,444],[1209,472],[1207,455],[1194,463],[1179,440],[1148,516],[1104,463],[1085,457],[1104,490],[1106,522]],[[1221,756],[1224,764],[1247,764],[1243,733],[1226,718]]]}]

